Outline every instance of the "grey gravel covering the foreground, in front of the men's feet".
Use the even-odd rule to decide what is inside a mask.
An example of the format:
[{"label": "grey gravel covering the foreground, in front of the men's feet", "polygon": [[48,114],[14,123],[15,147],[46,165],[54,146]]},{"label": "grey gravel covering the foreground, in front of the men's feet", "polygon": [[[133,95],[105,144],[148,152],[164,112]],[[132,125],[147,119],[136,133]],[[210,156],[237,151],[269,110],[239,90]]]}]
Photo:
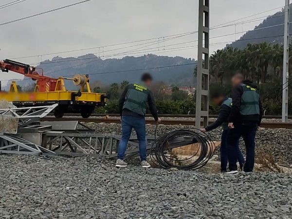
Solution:
[{"label": "grey gravel covering the foreground, in front of the men's feet", "polygon": [[0,155],[0,218],[291,218],[292,176]]}]

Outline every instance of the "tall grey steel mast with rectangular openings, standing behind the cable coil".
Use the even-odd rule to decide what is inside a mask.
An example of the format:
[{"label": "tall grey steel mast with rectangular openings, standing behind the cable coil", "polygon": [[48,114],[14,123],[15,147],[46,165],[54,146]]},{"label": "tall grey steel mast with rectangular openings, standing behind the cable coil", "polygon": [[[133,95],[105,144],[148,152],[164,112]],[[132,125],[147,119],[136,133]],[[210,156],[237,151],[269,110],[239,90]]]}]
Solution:
[{"label": "tall grey steel mast with rectangular openings, standing behind the cable coil", "polygon": [[196,128],[208,125],[209,112],[209,0],[199,0]]}]

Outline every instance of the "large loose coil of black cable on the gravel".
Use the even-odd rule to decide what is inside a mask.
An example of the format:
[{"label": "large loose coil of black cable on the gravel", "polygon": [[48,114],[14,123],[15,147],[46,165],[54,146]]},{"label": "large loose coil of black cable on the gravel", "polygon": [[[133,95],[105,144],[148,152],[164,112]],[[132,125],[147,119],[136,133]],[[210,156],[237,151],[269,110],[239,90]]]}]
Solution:
[{"label": "large loose coil of black cable on the gravel", "polygon": [[[201,130],[196,128],[192,129],[194,130],[174,130],[156,139],[156,126],[155,141],[152,144],[150,152],[150,159],[153,164],[164,169],[177,168],[183,170],[196,170],[206,165],[215,153],[215,144],[210,137],[201,132]],[[192,138],[192,141],[185,143],[185,145],[199,143],[197,152],[191,157],[178,159],[180,155],[171,154],[172,148],[179,148],[174,145],[175,143],[172,144],[171,142],[180,137]],[[198,154],[199,151],[201,151],[200,154]]]}]

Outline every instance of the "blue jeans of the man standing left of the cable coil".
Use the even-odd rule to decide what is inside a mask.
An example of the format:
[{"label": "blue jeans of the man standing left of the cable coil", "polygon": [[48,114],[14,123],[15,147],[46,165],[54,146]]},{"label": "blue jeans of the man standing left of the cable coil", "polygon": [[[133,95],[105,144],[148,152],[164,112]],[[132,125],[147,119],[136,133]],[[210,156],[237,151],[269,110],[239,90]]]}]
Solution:
[{"label": "blue jeans of the man standing left of the cable coil", "polygon": [[139,141],[139,152],[141,161],[146,161],[145,124],[146,122],[144,118],[137,118],[130,115],[125,115],[122,117],[122,139],[118,146],[118,159],[124,159],[125,152],[127,150],[128,140],[131,137],[132,128],[134,128]]}]

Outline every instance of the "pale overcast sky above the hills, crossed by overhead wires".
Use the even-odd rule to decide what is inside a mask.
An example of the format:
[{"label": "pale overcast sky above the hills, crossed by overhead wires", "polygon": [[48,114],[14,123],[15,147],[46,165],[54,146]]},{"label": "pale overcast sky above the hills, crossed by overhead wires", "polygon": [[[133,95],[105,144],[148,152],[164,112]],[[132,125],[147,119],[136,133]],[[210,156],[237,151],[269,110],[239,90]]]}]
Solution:
[{"label": "pale overcast sky above the hills, crossed by overhead wires", "polygon": [[[0,5],[11,1],[0,0]],[[26,0],[0,9],[0,23],[78,1],[81,0]],[[284,4],[285,0],[210,0],[210,26],[213,27],[239,18],[249,17],[282,7]],[[281,9],[278,8],[237,22],[272,15],[279,10]],[[256,21],[212,30],[210,37],[233,35],[211,39],[210,43],[215,43],[210,47],[211,52],[223,48],[225,44],[222,42],[238,39],[242,35],[241,32],[251,30],[259,23],[260,21]],[[136,52],[133,51],[133,54],[129,55],[138,56],[152,53],[197,58],[197,49],[189,48],[189,46],[195,46],[197,42],[185,43],[198,39],[197,34],[175,39],[166,37],[197,30],[198,0],[91,0],[70,8],[0,26],[0,59],[91,47],[101,48],[64,53],[60,54],[60,56],[69,57],[95,53],[96,55],[105,56],[102,58],[121,58],[124,55],[116,54],[136,49]],[[235,35],[235,33],[237,34]],[[157,38],[157,41],[152,39],[134,44],[103,47],[147,38]],[[146,42],[153,43],[102,52],[103,50],[119,49]],[[146,45],[148,47],[145,47]],[[137,49],[140,47],[144,48]],[[175,51],[169,51],[171,48]],[[178,51],[179,49],[182,50]],[[56,55],[43,55],[17,60],[32,64],[41,60],[51,59],[54,56]],[[16,73],[0,74],[1,80],[10,79],[11,77],[19,78],[19,75]]]}]

